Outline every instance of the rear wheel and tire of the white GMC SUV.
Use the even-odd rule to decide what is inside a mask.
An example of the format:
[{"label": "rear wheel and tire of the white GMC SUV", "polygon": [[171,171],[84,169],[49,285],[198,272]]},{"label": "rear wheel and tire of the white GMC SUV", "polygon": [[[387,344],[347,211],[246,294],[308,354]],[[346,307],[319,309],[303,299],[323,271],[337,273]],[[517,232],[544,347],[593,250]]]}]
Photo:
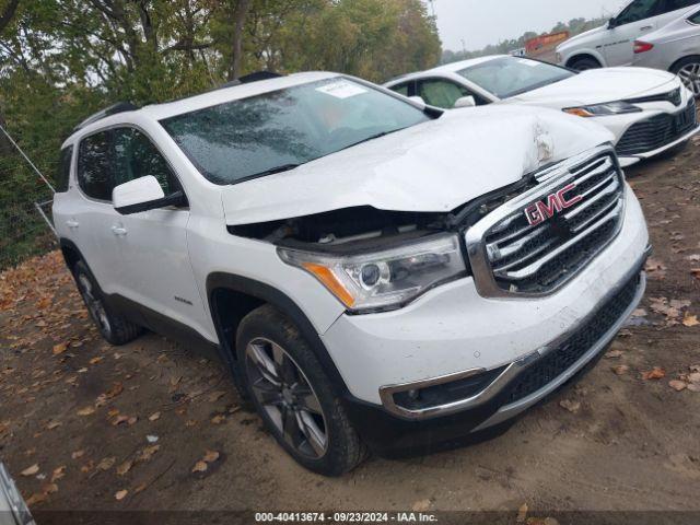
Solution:
[{"label": "rear wheel and tire of the white GMC SUV", "polygon": [[97,281],[82,260],[75,262],[73,278],[90,317],[107,342],[126,345],[143,332],[143,328],[127,320],[107,304]]}]

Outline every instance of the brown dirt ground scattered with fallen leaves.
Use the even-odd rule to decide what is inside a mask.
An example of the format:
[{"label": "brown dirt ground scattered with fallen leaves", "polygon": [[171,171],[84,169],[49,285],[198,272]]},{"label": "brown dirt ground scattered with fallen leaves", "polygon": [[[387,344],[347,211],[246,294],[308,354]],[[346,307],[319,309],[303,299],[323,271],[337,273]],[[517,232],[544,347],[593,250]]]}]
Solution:
[{"label": "brown dirt ground scattered with fallen leaves", "polygon": [[103,342],[54,253],[0,278],[0,456],[38,512],[700,511],[700,141],[627,174],[655,248],[643,310],[493,441],[310,474],[215,363],[155,335]]}]

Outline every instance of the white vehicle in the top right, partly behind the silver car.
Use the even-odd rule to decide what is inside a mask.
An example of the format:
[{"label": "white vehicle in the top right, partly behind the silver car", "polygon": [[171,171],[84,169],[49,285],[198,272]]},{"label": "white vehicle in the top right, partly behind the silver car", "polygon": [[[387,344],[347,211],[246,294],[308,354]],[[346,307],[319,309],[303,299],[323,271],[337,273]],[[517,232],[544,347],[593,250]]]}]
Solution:
[{"label": "white vehicle in the top right, partly behind the silver car", "polygon": [[691,11],[698,0],[633,0],[600,27],[574,36],[557,47],[557,61],[572,69],[631,66],[634,40],[643,39]]}]

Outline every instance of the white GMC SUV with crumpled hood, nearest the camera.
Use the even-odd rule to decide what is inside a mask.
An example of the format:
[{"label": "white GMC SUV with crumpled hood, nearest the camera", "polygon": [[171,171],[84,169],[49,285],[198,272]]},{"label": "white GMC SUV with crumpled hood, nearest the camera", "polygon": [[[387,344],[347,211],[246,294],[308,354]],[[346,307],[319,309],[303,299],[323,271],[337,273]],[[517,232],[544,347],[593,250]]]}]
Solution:
[{"label": "white GMC SUV with crumpled hood, nearest the camera", "polygon": [[299,463],[339,475],[366,446],[502,431],[600,355],[649,242],[610,140],[258,77],[83,122],[54,219],[108,341],[211,350]]}]

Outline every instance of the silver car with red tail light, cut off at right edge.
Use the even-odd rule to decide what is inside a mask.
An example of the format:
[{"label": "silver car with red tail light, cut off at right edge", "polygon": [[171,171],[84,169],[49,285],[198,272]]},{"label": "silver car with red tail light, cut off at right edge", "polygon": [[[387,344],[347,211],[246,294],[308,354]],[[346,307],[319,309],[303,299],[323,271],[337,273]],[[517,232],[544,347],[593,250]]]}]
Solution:
[{"label": "silver car with red tail light, cut off at right edge", "polygon": [[700,97],[700,8],[637,40],[633,65],[670,71]]}]

